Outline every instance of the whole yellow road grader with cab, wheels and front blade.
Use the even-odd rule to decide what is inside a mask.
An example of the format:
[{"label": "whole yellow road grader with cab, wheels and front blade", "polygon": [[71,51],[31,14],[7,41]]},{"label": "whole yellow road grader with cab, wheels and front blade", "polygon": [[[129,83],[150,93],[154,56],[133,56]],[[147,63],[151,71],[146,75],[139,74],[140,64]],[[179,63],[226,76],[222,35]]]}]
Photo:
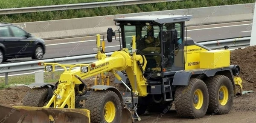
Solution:
[{"label": "whole yellow road grader with cab, wheels and front blade", "polygon": [[[62,65],[39,63],[45,71],[64,68],[55,85],[33,83],[23,100],[19,123],[134,123],[148,112],[167,112],[175,104],[180,117],[226,114],[233,105],[240,69],[230,65],[230,51],[211,50],[185,38],[191,15],[146,15],[114,19],[120,28],[107,31],[108,42],[120,35],[121,49],[105,54],[96,40],[96,61]],[[121,40],[120,40],[121,39]],[[103,37],[104,42],[104,37]],[[67,70],[69,67],[69,70]],[[74,69],[75,67],[79,67]],[[87,87],[85,78],[111,72],[109,82]],[[93,83],[93,82],[91,82]],[[81,102],[83,101],[83,102]]]}]

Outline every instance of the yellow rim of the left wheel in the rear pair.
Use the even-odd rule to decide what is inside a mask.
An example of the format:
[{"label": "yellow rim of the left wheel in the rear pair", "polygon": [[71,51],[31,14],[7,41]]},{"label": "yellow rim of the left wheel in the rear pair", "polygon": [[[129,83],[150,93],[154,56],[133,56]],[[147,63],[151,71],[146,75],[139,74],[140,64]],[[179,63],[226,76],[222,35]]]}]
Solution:
[{"label": "yellow rim of the left wheel in the rear pair", "polygon": [[203,100],[204,100],[203,92],[200,89],[197,89],[194,93],[194,100],[193,100],[195,109],[201,109],[204,102]]}]

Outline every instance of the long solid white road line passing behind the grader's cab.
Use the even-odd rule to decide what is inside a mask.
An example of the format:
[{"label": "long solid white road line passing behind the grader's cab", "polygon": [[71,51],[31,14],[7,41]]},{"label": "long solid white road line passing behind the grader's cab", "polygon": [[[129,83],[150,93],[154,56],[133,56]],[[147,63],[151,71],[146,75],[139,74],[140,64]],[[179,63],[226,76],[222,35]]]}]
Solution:
[{"label": "long solid white road line passing behind the grader's cab", "polygon": [[[205,29],[218,29],[218,28],[226,28],[226,27],[234,27],[234,26],[246,26],[246,25],[251,25],[251,24],[252,23],[240,24],[240,25],[231,25],[231,26],[210,27],[210,28],[202,28],[202,29],[191,29],[191,30],[187,30],[187,31],[197,31],[197,30],[205,30]],[[129,37],[131,37],[131,36],[129,36]],[[112,39],[115,39],[115,38],[112,38]],[[107,41],[107,38],[105,38],[104,40]],[[91,42],[91,41],[96,41],[96,40],[84,40],[84,41],[67,42],[67,43],[55,43],[55,44],[47,44],[46,46],[63,45],[63,44],[71,44],[71,43],[83,43],[83,42]],[[114,46],[111,46],[111,47],[114,47]]]}]

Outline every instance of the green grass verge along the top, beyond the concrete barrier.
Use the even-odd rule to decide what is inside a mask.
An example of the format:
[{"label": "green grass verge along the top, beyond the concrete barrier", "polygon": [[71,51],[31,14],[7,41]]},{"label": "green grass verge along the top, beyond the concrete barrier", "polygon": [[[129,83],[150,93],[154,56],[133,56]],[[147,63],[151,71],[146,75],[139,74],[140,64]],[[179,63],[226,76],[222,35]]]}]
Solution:
[{"label": "green grass verge along the top, beyond the concrete barrier", "polygon": [[[16,8],[28,6],[46,6],[70,3],[99,2],[111,0],[0,0],[0,8]],[[78,9],[65,11],[44,11],[26,14],[1,15],[1,22],[22,23],[44,20],[59,20],[80,17],[94,17],[112,14],[128,14],[148,11],[163,11],[173,9],[189,9],[208,6],[234,5],[255,3],[255,0],[185,0],[177,2],[142,4],[131,6],[111,6],[94,9]]]}]

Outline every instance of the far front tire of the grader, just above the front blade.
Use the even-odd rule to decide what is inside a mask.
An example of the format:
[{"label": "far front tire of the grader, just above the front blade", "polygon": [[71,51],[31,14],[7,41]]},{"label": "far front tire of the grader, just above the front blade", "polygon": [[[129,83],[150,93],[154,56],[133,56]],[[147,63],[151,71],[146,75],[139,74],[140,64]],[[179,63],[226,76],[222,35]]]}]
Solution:
[{"label": "far front tire of the grader, just above the front blade", "polygon": [[26,96],[23,97],[23,106],[30,107],[43,107],[47,96],[48,88],[34,88],[27,92]]}]

